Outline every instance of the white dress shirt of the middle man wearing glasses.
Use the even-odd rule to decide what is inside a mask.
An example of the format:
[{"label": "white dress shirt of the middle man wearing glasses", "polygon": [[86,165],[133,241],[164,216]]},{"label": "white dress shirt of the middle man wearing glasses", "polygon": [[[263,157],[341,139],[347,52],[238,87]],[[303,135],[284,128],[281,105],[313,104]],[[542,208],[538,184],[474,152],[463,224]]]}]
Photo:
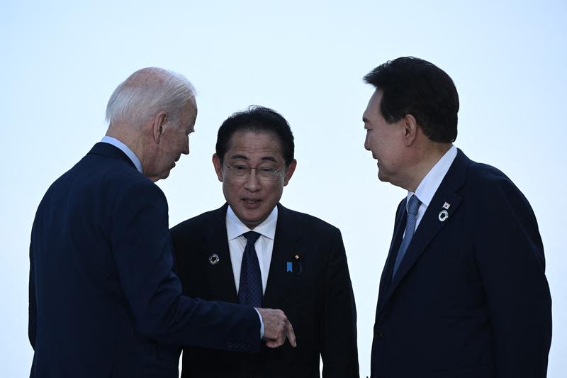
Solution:
[{"label": "white dress shirt of the middle man wearing glasses", "polygon": [[248,231],[254,231],[260,234],[260,237],[254,244],[258,262],[260,264],[260,273],[262,274],[262,294],[266,292],[266,283],[268,282],[268,273],[270,270],[271,252],[274,250],[274,236],[276,235],[276,223],[278,222],[278,206],[274,207],[268,218],[250,230],[232,211],[230,206],[226,211],[226,233],[228,238],[228,249],[230,250],[230,262],[232,262],[232,272],[235,274],[235,287],[238,293],[240,287],[240,268],[242,267],[242,255],[246,248],[247,240],[242,235]]}]

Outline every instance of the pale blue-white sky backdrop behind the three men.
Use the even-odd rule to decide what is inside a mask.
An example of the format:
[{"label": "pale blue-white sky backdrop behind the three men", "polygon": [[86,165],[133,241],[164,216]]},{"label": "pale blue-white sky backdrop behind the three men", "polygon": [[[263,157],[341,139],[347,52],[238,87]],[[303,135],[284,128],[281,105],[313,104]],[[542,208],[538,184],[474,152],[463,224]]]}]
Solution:
[{"label": "pale blue-white sky backdrop behind the three men", "polygon": [[[277,4],[276,4],[277,3]],[[378,280],[402,189],[378,182],[362,113],[377,65],[430,60],[459,90],[457,147],[531,202],[554,300],[549,377],[567,371],[567,3],[563,1],[16,1],[0,3],[0,366],[26,377],[28,243],[50,183],[106,131],[113,89],[141,67],[198,91],[191,155],[159,186],[170,225],[223,204],[216,131],[249,104],[279,111],[298,167],[282,203],[342,230],[370,372]]]}]

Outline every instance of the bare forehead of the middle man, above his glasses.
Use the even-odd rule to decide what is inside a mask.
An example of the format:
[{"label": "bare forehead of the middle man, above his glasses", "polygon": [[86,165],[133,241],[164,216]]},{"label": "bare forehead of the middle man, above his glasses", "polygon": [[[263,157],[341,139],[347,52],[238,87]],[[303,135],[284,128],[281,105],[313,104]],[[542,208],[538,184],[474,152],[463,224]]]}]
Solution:
[{"label": "bare forehead of the middle man, above his glasses", "polygon": [[239,130],[232,134],[228,141],[227,158],[232,155],[271,155],[283,160],[281,143],[273,133],[265,131]]}]

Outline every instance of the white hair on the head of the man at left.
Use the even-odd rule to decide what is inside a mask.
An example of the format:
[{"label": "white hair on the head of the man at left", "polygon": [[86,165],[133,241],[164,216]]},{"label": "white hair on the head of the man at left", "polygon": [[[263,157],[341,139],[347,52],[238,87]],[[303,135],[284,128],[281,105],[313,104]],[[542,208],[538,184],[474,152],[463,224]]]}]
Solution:
[{"label": "white hair on the head of the man at left", "polygon": [[120,83],[106,106],[106,121],[140,127],[160,111],[176,121],[195,89],[186,77],[157,67],[142,68]]}]

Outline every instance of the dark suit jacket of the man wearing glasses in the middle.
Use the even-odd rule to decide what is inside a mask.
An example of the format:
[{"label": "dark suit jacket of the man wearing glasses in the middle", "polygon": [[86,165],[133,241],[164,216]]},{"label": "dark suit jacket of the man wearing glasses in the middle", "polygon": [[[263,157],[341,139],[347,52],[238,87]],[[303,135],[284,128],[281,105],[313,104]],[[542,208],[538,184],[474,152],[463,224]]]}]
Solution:
[{"label": "dark suit jacket of the man wearing glasses in the middle", "polygon": [[[226,232],[228,205],[172,228],[184,294],[238,302]],[[209,257],[216,253],[218,264]],[[296,259],[296,256],[299,258]],[[287,272],[287,263],[293,272]],[[286,343],[259,354],[184,348],[183,377],[359,377],[357,319],[340,231],[278,205],[264,308],[281,308],[297,348]]]}]

